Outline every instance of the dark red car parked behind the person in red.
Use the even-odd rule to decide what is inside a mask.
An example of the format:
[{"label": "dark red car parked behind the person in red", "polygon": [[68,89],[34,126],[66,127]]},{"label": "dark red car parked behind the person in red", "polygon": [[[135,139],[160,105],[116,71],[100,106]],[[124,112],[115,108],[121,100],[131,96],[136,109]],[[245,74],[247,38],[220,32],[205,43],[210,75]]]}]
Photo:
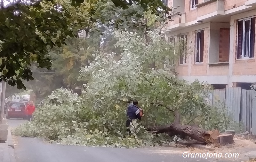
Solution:
[{"label": "dark red car parked behind the person in red", "polygon": [[26,118],[26,104],[24,102],[10,102],[6,109],[6,119]]}]

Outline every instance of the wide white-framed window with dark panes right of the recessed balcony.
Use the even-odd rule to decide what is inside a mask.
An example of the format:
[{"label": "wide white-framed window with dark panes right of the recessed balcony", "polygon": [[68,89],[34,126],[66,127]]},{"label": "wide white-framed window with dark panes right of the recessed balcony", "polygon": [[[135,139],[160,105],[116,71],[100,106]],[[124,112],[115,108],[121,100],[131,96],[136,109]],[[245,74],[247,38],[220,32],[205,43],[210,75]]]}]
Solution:
[{"label": "wide white-framed window with dark panes right of the recessed balcony", "polygon": [[237,58],[254,58],[255,17],[237,22]]}]

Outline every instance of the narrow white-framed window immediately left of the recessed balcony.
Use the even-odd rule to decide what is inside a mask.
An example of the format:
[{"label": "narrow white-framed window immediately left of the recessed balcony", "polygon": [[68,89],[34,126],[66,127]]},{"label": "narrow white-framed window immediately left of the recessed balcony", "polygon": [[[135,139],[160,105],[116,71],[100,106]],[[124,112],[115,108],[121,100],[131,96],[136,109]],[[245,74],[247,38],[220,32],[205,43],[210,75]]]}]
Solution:
[{"label": "narrow white-framed window immediately left of the recessed balcony", "polygon": [[204,30],[196,32],[196,62],[204,61]]}]

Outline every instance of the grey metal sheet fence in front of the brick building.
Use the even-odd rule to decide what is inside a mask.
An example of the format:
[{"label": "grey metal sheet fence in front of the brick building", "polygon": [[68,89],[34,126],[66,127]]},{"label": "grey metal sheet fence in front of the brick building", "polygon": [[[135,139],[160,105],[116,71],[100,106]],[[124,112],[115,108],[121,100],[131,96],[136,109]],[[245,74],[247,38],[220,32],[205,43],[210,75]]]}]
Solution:
[{"label": "grey metal sheet fence in front of the brick building", "polygon": [[241,88],[216,89],[211,104],[225,104],[234,121],[244,123],[245,130],[256,135],[256,92]]}]

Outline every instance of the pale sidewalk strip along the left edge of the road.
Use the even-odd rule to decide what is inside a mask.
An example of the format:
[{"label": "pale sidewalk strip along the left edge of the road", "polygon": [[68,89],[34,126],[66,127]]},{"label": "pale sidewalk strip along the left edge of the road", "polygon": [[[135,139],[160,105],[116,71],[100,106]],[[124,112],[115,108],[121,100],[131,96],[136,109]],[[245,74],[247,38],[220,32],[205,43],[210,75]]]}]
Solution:
[{"label": "pale sidewalk strip along the left edge of the road", "polygon": [[0,162],[16,162],[10,127],[8,127],[7,141],[0,143]]}]

